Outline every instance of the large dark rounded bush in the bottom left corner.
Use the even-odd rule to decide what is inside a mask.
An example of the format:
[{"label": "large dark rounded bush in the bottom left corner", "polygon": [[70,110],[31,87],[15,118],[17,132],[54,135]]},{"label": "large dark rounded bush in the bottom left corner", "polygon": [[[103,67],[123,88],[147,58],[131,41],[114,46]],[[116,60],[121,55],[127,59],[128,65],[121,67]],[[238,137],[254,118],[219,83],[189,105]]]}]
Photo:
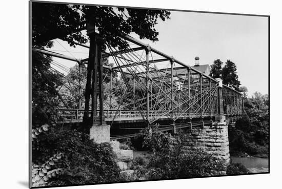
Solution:
[{"label": "large dark rounded bush in the bottom left corner", "polygon": [[50,128],[32,143],[32,161],[41,165],[50,154],[62,153],[54,169],[62,173],[47,185],[90,184],[119,180],[119,168],[109,143],[96,144],[89,135],[65,128]]}]

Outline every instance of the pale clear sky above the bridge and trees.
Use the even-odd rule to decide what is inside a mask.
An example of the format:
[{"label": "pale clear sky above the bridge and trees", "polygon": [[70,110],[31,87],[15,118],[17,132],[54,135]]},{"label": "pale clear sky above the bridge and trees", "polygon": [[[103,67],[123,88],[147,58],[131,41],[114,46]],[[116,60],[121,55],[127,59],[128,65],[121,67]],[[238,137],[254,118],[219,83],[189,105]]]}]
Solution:
[{"label": "pale clear sky above the bridge and trees", "polygon": [[[200,65],[212,65],[215,59],[235,62],[238,80],[246,86],[248,95],[255,91],[268,94],[268,18],[212,13],[171,11],[169,20],[161,20],[155,26],[159,32],[158,41],[142,40],[187,65],[194,65],[194,58],[200,58]],[[135,34],[132,37],[139,39]],[[63,47],[64,46],[64,47]],[[66,50],[75,57],[87,57],[81,47],[75,51],[64,41],[56,40],[55,50]],[[70,54],[69,54],[70,55]],[[73,62],[65,62],[68,67]]]}]

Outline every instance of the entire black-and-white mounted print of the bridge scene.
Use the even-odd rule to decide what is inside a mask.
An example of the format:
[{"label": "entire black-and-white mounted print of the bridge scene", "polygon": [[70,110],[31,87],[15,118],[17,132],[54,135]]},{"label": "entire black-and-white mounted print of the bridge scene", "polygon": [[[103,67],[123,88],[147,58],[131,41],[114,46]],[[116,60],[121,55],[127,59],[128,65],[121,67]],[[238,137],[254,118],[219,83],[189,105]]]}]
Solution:
[{"label": "entire black-and-white mounted print of the bridge scene", "polygon": [[29,6],[30,187],[269,173],[269,16]]}]

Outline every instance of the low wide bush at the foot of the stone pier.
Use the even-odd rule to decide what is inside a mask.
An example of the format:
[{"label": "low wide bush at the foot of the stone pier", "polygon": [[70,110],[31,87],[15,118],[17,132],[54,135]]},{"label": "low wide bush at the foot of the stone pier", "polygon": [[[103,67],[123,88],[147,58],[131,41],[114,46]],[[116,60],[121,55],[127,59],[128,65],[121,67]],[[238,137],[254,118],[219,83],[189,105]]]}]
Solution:
[{"label": "low wide bush at the foot of the stone pier", "polygon": [[189,178],[220,175],[225,171],[223,161],[202,149],[185,153],[181,149],[171,149],[169,154],[156,153],[150,160],[150,179]]}]

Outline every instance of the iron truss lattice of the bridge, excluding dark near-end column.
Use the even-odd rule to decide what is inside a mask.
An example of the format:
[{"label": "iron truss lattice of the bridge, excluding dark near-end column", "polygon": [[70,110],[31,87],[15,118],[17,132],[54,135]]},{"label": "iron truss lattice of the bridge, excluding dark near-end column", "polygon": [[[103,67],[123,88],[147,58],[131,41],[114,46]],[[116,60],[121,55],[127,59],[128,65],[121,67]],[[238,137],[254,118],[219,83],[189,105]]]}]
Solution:
[{"label": "iron truss lattice of the bridge, excluding dark near-end column", "polygon": [[[104,107],[109,107],[103,110],[106,121],[113,124],[114,121],[120,120],[139,120],[150,125],[161,119],[176,122],[180,119],[212,118],[219,115],[219,81],[130,36],[125,36],[125,39],[130,44],[127,49],[118,50],[108,42],[107,50],[102,53],[103,58],[109,58],[113,63],[112,66],[103,66],[111,77],[110,100],[104,101]],[[33,48],[32,50],[33,53],[45,58],[48,58],[45,55],[50,55],[75,61],[79,68],[88,64],[88,58],[78,59],[44,49]],[[64,67],[53,60],[52,64]],[[48,71],[59,73],[54,66]],[[123,92],[113,90],[113,72],[117,72],[122,78],[126,86]],[[80,78],[79,82],[71,82],[79,86],[78,91],[72,92],[79,96],[80,105],[84,100],[81,90],[85,87],[81,86],[80,81],[86,78],[80,71],[77,75]],[[113,96],[118,96],[119,104],[115,109],[111,108]],[[222,99],[224,115],[242,114],[243,96],[241,93],[223,85]],[[95,112],[99,116],[100,111]],[[84,109],[80,106],[78,108],[68,107],[59,109],[59,114],[65,122],[79,122],[83,119]]]}]

